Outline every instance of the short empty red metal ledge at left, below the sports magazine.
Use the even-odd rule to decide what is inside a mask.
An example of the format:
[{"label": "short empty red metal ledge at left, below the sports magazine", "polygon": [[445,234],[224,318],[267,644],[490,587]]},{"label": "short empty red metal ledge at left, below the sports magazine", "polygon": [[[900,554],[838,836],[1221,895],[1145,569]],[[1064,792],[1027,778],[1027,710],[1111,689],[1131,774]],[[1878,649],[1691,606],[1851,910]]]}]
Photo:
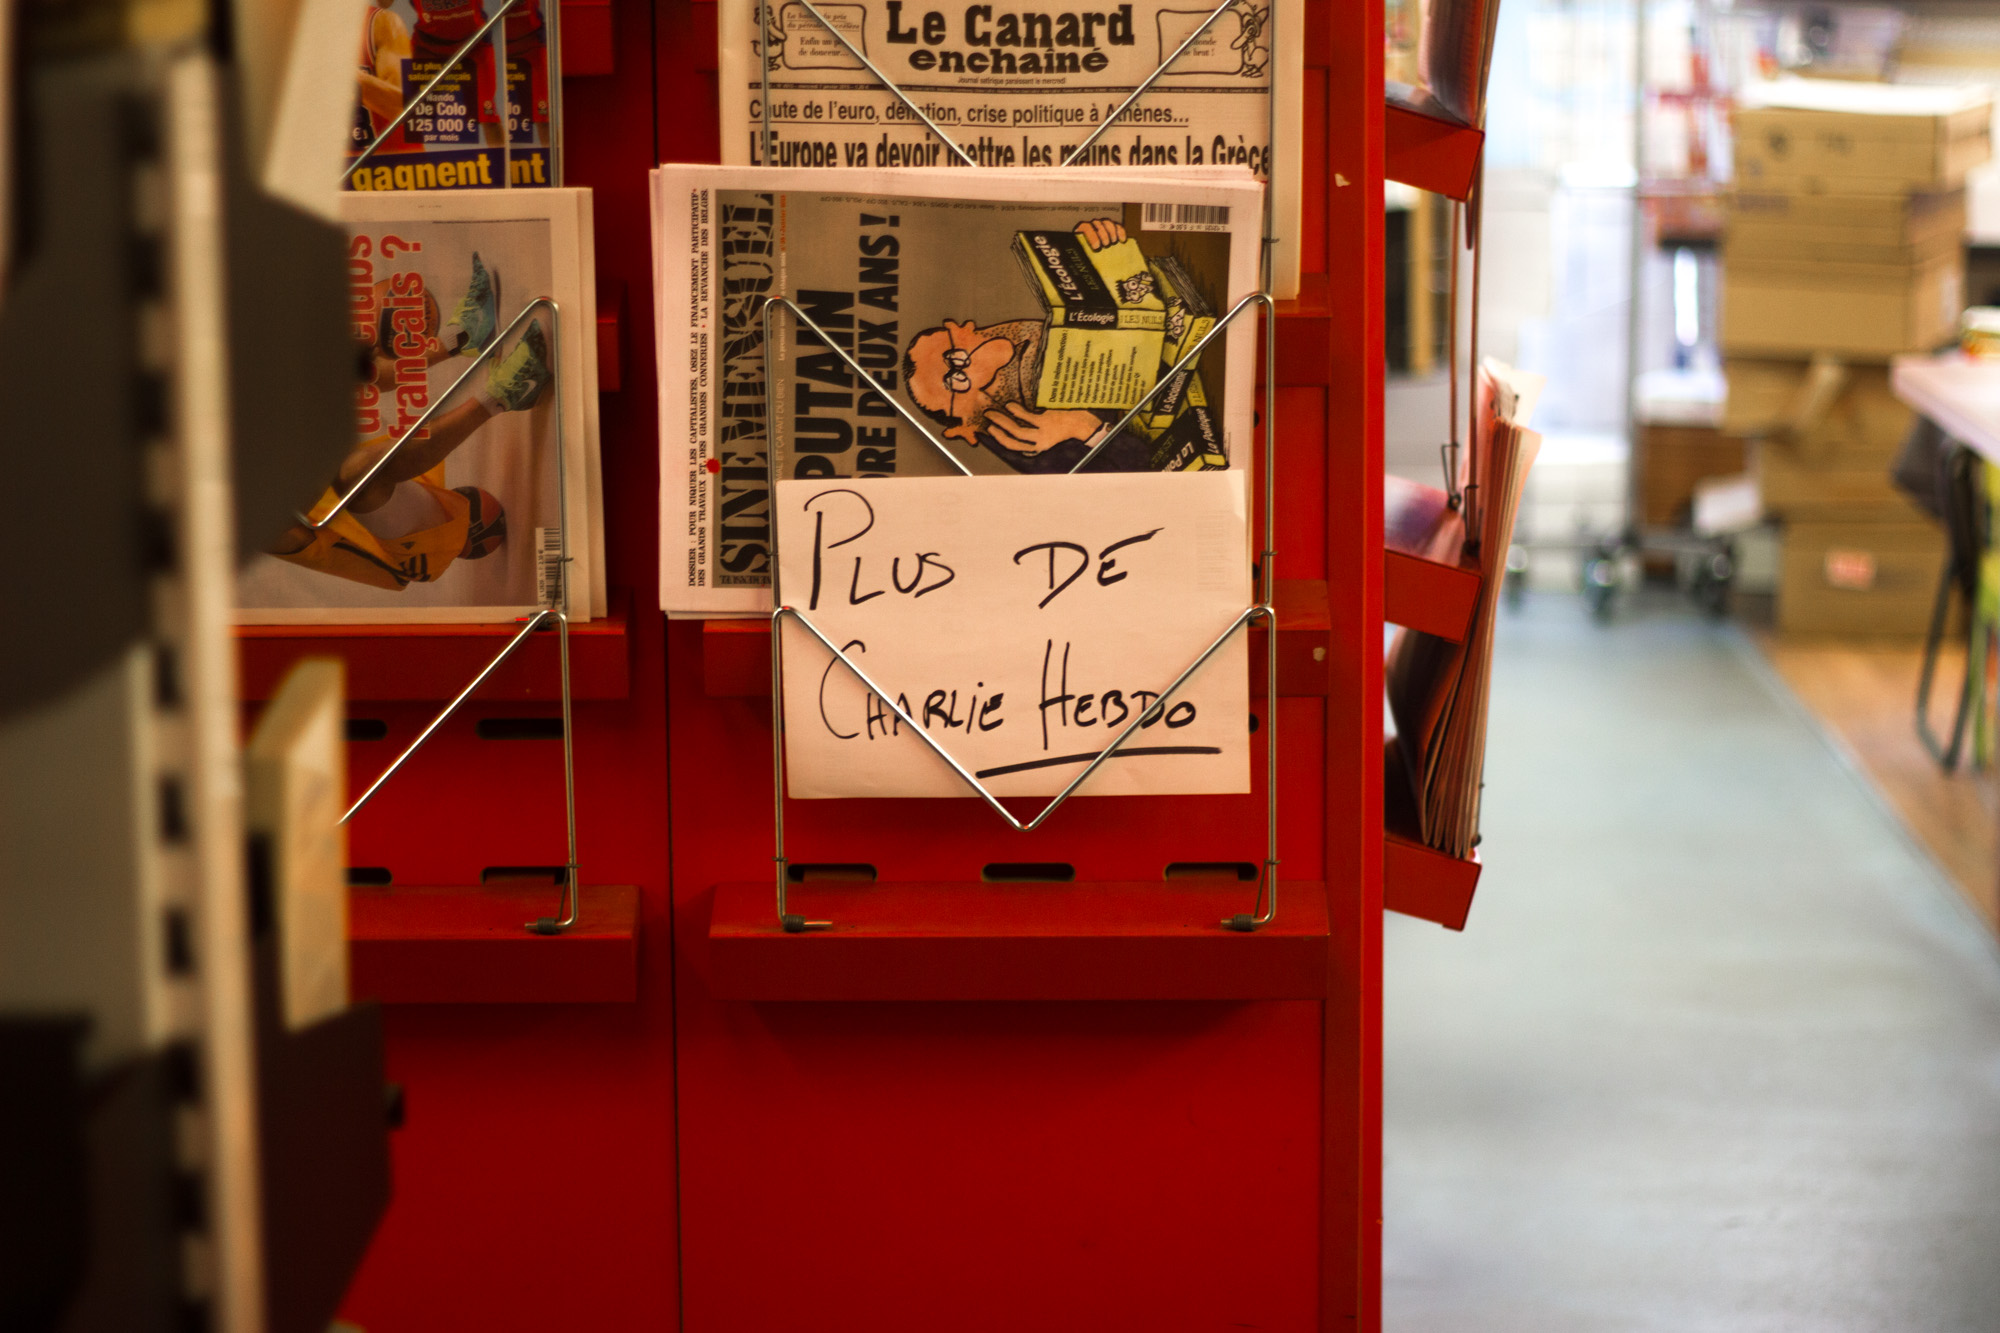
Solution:
[{"label": "short empty red metal ledge at left, below the sports magazine", "polygon": [[638,889],[584,885],[566,933],[524,929],[560,907],[556,885],[350,889],[350,989],[384,1005],[636,1001]]}]

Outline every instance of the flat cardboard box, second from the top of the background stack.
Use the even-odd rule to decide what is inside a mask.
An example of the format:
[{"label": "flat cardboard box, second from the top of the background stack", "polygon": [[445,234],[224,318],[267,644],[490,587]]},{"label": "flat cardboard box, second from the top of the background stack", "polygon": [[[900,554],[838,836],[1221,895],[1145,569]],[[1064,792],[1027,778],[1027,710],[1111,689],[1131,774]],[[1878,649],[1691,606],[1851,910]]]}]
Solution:
[{"label": "flat cardboard box, second from the top of the background stack", "polygon": [[1724,252],[1746,264],[1798,260],[1926,264],[1964,246],[1966,192],[1730,196]]}]

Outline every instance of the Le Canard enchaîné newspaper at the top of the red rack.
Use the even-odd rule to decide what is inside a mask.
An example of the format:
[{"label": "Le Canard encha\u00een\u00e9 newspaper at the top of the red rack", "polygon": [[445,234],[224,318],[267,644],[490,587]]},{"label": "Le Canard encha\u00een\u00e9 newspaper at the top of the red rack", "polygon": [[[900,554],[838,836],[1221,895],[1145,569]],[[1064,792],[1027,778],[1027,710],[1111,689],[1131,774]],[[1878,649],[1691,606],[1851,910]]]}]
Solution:
[{"label": "Le Canard encha\u00een\u00e9 newspaper at the top of the red rack", "polygon": [[[1272,294],[1298,294],[1302,0],[1016,10],[1008,4],[816,0],[814,6],[974,166],[1062,166],[1126,96],[1164,72],[1078,168],[1248,166],[1272,184]],[[724,0],[722,160],[730,166],[964,166],[796,0]],[[768,12],[768,42],[758,14]],[[758,60],[768,46],[768,68]],[[772,144],[764,130],[770,88]],[[1272,96],[1276,106],[1272,106]]]}]

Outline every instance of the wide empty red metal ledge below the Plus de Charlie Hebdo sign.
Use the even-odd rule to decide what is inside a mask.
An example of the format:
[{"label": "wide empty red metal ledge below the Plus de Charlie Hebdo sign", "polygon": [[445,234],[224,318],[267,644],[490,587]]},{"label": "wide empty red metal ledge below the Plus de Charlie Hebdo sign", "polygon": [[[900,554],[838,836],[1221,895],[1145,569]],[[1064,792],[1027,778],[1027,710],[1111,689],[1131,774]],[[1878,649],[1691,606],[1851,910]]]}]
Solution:
[{"label": "wide empty red metal ledge below the Plus de Charlie Hebdo sign", "polygon": [[718,885],[698,961],[728,1001],[1324,999],[1326,887],[1280,883],[1276,919],[1222,929],[1256,885],[804,883],[786,907],[832,929],[786,935],[772,885]]}]

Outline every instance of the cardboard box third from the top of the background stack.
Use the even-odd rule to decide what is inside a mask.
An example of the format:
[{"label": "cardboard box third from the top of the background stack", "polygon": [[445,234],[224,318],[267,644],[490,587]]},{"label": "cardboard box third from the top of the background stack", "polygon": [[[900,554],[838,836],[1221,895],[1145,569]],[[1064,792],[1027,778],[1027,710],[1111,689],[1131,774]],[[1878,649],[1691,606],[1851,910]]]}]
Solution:
[{"label": "cardboard box third from the top of the background stack", "polygon": [[1930,264],[1746,264],[1724,256],[1722,348],[1752,356],[1834,352],[1888,360],[1958,338],[1960,252]]}]

